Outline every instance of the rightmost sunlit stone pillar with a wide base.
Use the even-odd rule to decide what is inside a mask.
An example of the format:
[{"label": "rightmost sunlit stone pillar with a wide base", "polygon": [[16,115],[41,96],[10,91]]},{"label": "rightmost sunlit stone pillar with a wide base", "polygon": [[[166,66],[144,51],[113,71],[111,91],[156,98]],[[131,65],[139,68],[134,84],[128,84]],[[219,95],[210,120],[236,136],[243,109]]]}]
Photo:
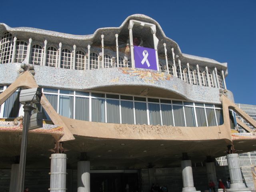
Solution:
[{"label": "rightmost sunlit stone pillar with a wide base", "polygon": [[226,191],[230,192],[251,192],[250,188],[247,188],[243,183],[242,172],[239,164],[238,154],[227,154],[228,170],[230,175],[230,189]]}]

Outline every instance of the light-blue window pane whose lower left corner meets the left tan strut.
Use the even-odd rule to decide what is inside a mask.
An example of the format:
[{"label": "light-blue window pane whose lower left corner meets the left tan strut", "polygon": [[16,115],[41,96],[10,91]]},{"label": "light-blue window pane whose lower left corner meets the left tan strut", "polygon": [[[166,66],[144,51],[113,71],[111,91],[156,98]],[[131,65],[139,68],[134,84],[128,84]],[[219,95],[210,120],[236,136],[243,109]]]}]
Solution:
[{"label": "light-blue window pane whose lower left corner meets the left tan strut", "polygon": [[74,97],[60,95],[59,114],[68,118],[73,118]]}]

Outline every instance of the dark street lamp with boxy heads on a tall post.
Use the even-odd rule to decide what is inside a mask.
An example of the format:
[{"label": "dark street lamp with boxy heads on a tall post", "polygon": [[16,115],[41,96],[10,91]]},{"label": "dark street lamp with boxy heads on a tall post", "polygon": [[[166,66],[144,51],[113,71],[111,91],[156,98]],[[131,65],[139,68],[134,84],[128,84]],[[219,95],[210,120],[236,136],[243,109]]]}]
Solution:
[{"label": "dark street lamp with boxy heads on a tall post", "polygon": [[[41,96],[42,88],[24,89],[20,91],[20,103],[24,105],[24,118],[17,192],[23,192],[24,188],[28,130],[40,128],[43,126],[42,113],[39,113],[38,110],[36,110],[38,107],[36,104],[39,103],[40,105]],[[33,113],[31,114],[32,111]]]}]

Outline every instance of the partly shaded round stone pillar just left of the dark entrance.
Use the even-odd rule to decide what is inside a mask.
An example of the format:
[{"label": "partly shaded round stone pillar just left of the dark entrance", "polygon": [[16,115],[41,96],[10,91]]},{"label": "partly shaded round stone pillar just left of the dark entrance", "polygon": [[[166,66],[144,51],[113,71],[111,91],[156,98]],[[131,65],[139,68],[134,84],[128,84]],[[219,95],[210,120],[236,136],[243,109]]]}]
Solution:
[{"label": "partly shaded round stone pillar just left of the dark entrance", "polygon": [[90,161],[78,161],[77,179],[77,192],[90,192]]}]

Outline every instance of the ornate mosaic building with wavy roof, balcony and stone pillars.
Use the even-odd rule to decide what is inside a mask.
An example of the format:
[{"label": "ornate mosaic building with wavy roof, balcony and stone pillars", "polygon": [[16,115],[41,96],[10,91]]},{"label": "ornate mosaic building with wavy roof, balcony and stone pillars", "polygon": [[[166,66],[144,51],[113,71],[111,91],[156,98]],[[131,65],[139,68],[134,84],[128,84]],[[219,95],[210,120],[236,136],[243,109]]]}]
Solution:
[{"label": "ornate mosaic building with wavy roof, balcony and stone pillars", "polygon": [[[28,135],[32,191],[135,192],[159,183],[195,192],[228,177],[229,191],[253,190],[238,153],[256,149],[255,116],[234,103],[227,63],[182,53],[141,14],[84,36],[0,24],[0,38],[0,191],[16,191],[20,90],[38,86],[44,124]],[[228,166],[216,166],[225,154]]]}]

